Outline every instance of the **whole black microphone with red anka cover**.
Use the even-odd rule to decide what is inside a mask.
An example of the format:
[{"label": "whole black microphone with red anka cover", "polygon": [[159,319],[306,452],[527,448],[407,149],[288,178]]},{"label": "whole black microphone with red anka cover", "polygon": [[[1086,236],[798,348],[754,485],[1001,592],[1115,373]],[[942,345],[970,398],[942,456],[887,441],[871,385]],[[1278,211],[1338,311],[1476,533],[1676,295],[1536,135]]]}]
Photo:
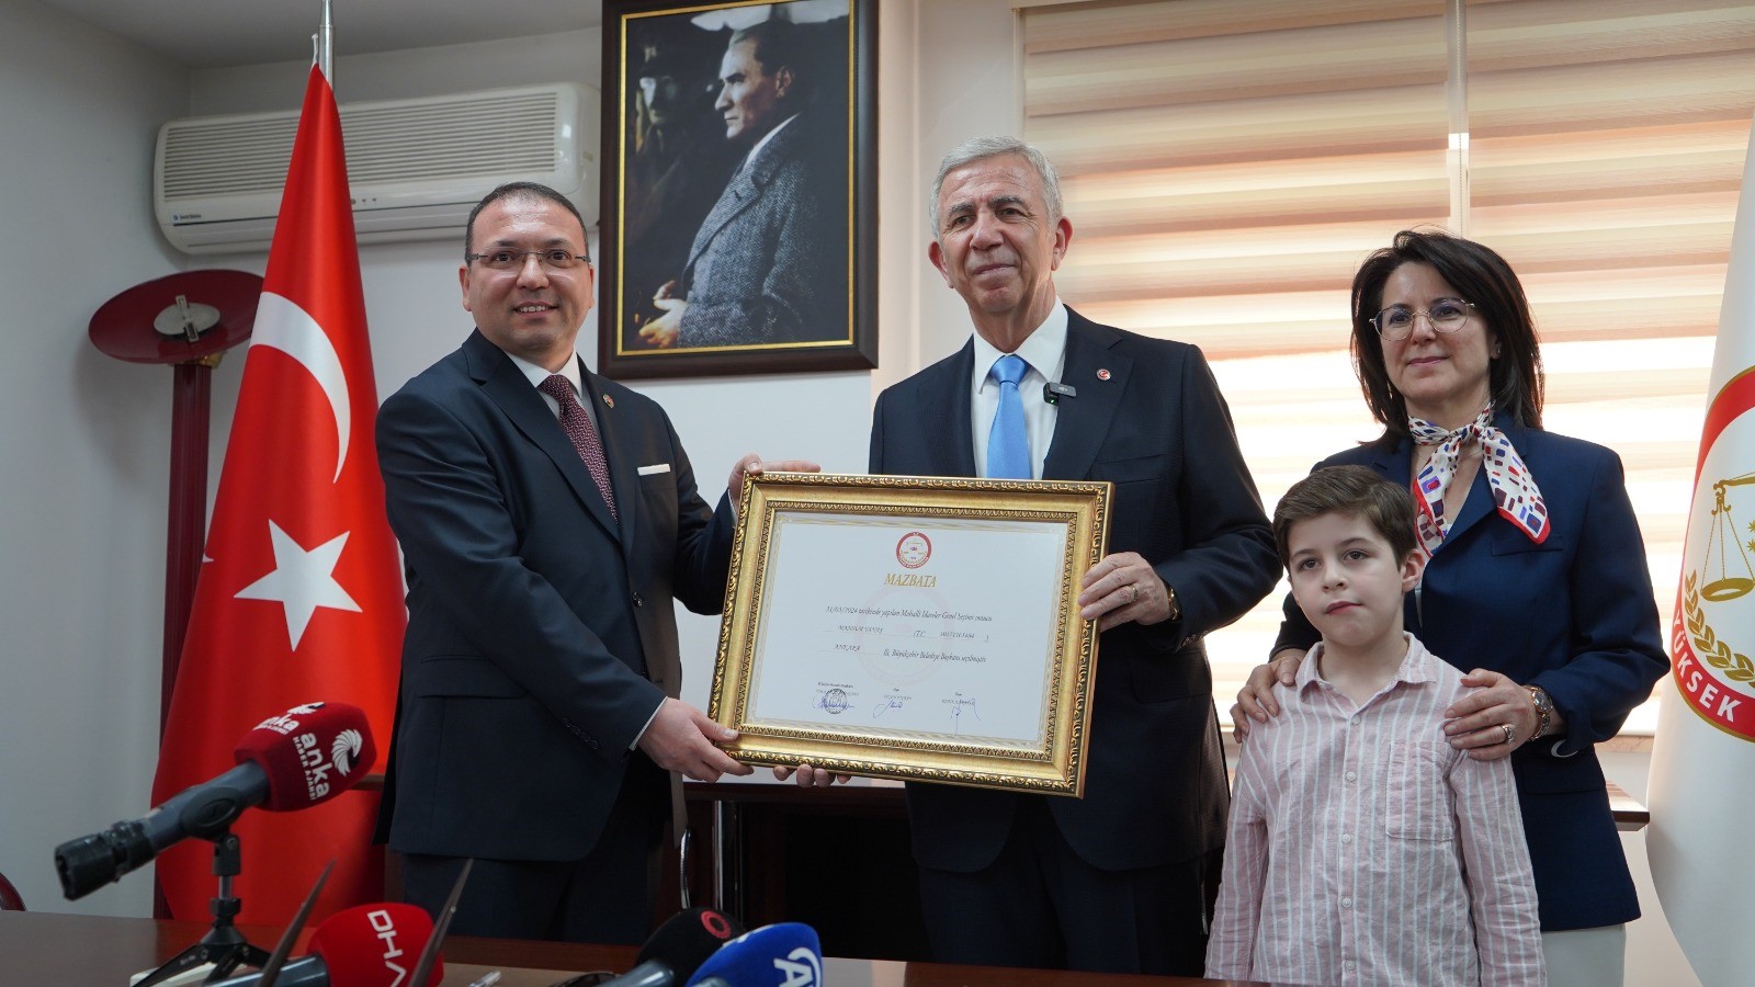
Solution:
[{"label": "whole black microphone with red anka cover", "polygon": [[365,778],[377,746],[358,706],[309,702],[256,724],[232,755],[237,767],[177,792],[142,818],[56,847],[67,899],[121,880],[181,839],[219,836],[249,806],[297,811],[326,803]]}]

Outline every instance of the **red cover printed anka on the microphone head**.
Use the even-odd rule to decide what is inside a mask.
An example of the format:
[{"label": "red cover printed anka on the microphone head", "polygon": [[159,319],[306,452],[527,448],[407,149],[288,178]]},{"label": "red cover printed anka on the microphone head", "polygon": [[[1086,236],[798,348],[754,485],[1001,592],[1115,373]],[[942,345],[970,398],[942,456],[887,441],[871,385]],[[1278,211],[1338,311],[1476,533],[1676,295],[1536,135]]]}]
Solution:
[{"label": "red cover printed anka on the microphone head", "polygon": [[307,702],[269,717],[232,750],[269,776],[261,808],[297,811],[355,787],[377,759],[365,710],[346,702]]}]

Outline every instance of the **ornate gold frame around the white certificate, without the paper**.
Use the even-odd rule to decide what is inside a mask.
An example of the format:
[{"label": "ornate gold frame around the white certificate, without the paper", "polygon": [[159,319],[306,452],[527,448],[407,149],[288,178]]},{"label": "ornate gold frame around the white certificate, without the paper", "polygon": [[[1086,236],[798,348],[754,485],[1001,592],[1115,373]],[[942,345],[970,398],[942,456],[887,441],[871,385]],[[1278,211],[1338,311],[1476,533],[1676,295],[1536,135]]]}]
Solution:
[{"label": "ornate gold frame around the white certificate, without the paper", "polygon": [[[1079,618],[1078,597],[1081,576],[1104,555],[1109,497],[1111,485],[1106,481],[806,472],[774,472],[746,479],[732,546],[732,573],[725,590],[725,616],[720,623],[713,699],[707,708],[713,720],[739,731],[735,741],[723,745],[725,750],[746,764],[811,764],[874,778],[1079,797],[1085,789],[1090,688],[1097,673],[1097,627]],[[760,688],[762,660],[770,643],[777,643],[783,634],[781,629],[769,627],[774,604],[770,587],[776,583],[772,574],[788,566],[811,566],[811,571],[820,571],[823,564],[821,558],[788,557],[779,548],[776,530],[790,515],[844,516],[849,527],[851,523],[876,527],[874,522],[881,520],[885,537],[900,530],[904,539],[916,530],[953,530],[960,522],[1060,525],[1058,606],[1051,622],[1053,639],[1042,641],[1048,652],[1048,673],[1037,692],[1041,736],[1028,745],[981,743],[979,738],[965,739],[955,732],[878,729],[839,722],[830,727],[804,720],[755,718],[751,708],[756,695],[751,690]],[[900,562],[900,548],[902,541],[897,541],[897,564],[892,567],[906,566]],[[1006,558],[992,560],[995,567],[1006,564]],[[888,581],[885,573],[874,576],[879,583]],[[888,581],[888,585],[918,583]],[[788,643],[800,639],[797,630],[784,629]],[[881,629],[872,630],[881,636]],[[834,648],[834,645],[821,646]],[[860,648],[860,645],[849,646]],[[872,650],[876,652],[876,646]],[[823,695],[827,697],[827,692]],[[953,722],[955,713],[960,710],[953,708]]]}]

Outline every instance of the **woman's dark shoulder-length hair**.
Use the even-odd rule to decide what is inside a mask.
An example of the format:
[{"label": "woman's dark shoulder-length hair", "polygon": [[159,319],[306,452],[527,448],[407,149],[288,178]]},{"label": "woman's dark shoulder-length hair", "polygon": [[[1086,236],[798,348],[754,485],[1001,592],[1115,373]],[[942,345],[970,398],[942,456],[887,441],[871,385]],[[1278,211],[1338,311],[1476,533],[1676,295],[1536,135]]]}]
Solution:
[{"label": "woman's dark shoulder-length hair", "polygon": [[1508,413],[1518,425],[1541,429],[1541,342],[1536,320],[1518,276],[1492,249],[1444,230],[1402,230],[1390,246],[1372,253],[1353,276],[1353,371],[1365,393],[1371,416],[1385,436],[1408,436],[1408,404],[1390,386],[1383,365],[1383,341],[1371,320],[1383,309],[1383,285],[1404,263],[1434,267],[1462,300],[1474,306],[1494,335],[1501,355],[1488,369],[1488,395],[1495,413]]}]

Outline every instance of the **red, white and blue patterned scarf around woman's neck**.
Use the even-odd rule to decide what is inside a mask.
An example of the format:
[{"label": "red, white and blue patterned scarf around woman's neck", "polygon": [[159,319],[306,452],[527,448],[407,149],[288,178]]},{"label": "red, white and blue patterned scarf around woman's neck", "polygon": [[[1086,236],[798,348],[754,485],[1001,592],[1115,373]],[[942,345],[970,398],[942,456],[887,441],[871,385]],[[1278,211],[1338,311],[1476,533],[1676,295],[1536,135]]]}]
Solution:
[{"label": "red, white and blue patterned scarf around woman's neck", "polygon": [[1446,432],[1420,418],[1408,418],[1408,432],[1422,446],[1437,446],[1415,479],[1415,506],[1418,508],[1415,527],[1427,555],[1437,551],[1437,546],[1444,544],[1444,536],[1450,534],[1450,522],[1441,520],[1444,518],[1444,495],[1450,494],[1450,481],[1457,476],[1462,450],[1471,439],[1481,443],[1481,469],[1486,471],[1486,485],[1494,492],[1494,506],[1499,508],[1499,513],[1536,544],[1548,539],[1548,504],[1543,502],[1536,479],[1523,465],[1523,457],[1511,448],[1511,439],[1494,427],[1492,404],[1483,407],[1474,421],[1455,432]]}]

